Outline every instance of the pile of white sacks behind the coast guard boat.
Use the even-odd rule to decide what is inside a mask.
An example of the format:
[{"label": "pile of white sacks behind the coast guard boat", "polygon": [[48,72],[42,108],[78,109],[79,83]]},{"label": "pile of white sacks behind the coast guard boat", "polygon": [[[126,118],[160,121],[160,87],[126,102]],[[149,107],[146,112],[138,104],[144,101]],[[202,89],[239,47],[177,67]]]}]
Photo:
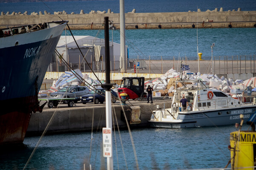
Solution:
[{"label": "pile of white sacks behind the coast guard boat", "polygon": [[[190,71],[186,71],[186,73],[191,73]],[[154,79],[154,80],[148,80],[145,82],[145,88],[150,85],[153,87],[154,90],[164,90],[166,89],[166,86],[168,85],[168,82],[170,81],[170,78],[180,78],[180,72],[177,72],[174,69],[170,69],[166,72],[166,74],[163,74],[160,78]],[[182,79],[201,79],[202,82],[206,86],[212,89],[218,89],[225,93],[233,93],[236,94],[236,91],[244,91],[246,90],[247,86],[251,86],[252,88],[256,87],[256,77],[252,77],[247,80],[233,80],[232,78],[226,79],[224,76],[218,77],[216,74],[200,74],[198,72],[197,74],[184,74],[182,76]],[[174,92],[175,87],[172,86],[169,89],[168,93]]]}]

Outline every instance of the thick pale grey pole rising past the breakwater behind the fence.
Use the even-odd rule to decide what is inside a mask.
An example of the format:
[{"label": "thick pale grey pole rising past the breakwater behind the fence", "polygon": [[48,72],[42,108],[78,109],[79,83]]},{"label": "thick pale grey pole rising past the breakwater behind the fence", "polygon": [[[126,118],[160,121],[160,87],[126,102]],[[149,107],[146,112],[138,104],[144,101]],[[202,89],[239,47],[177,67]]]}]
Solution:
[{"label": "thick pale grey pole rising past the breakwater behind the fence", "polygon": [[120,62],[122,67],[121,73],[126,73],[127,55],[125,54],[125,3],[124,0],[119,0],[120,3]]}]

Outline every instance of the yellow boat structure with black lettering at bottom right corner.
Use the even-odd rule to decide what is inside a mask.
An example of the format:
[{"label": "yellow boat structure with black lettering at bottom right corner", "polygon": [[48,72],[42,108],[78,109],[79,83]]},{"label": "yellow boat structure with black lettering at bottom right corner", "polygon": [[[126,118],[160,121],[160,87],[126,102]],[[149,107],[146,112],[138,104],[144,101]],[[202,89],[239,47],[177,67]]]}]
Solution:
[{"label": "yellow boat structure with black lettering at bottom right corner", "polygon": [[240,115],[241,123],[236,123],[237,131],[230,133],[230,161],[232,170],[255,170],[256,168],[256,132],[254,119],[246,122],[251,130],[241,130],[244,115]]}]

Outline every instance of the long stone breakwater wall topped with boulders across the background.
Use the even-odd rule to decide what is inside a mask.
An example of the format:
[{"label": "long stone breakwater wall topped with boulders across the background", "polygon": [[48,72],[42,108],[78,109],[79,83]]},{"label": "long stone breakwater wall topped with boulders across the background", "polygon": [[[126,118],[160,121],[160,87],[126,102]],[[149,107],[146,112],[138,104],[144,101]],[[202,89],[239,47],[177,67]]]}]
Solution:
[{"label": "long stone breakwater wall topped with boulders across the background", "polygon": [[[20,13],[20,12],[19,12]],[[25,24],[37,24],[49,21],[68,20],[71,29],[103,29],[104,17],[113,21],[113,26],[119,29],[120,17],[108,10],[108,12],[93,12],[84,14],[67,14],[65,11],[49,14],[47,11],[39,14],[31,13],[4,14],[1,12],[0,27],[20,26]],[[26,13],[26,12],[25,12]],[[58,15],[57,15],[58,14]],[[59,17],[58,17],[59,16]],[[202,12],[164,12],[164,13],[135,13],[135,10],[125,13],[126,29],[155,29],[155,28],[252,28],[256,27],[256,11],[218,11],[207,10]]]}]

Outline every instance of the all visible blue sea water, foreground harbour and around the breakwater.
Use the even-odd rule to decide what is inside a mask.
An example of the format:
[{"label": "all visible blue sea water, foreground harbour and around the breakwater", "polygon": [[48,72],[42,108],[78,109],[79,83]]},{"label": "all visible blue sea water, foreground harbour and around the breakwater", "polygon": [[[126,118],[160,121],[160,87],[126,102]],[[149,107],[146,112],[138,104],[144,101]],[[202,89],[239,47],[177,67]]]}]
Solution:
[{"label": "all visible blue sea water, foreground harbour and around the breakwater", "polygon": [[[52,11],[85,13],[91,10],[119,13],[119,0],[90,0],[77,2],[47,2]],[[44,3],[0,3],[0,11],[47,10]],[[125,0],[125,12],[183,12],[223,7],[224,11],[241,8],[242,11],[256,10],[255,0]],[[164,28],[164,26],[163,26]],[[104,38],[103,30],[73,30],[74,35],[91,35]],[[98,33],[98,34],[97,34]],[[67,31],[67,34],[70,33]],[[63,32],[65,35],[65,32]],[[256,28],[204,28],[198,29],[138,29],[126,30],[126,45],[130,58],[172,59],[172,57],[197,58],[198,51],[203,59],[213,56],[256,55]],[[198,38],[197,38],[198,37]],[[110,31],[112,40],[112,31]],[[197,45],[198,40],[198,45]],[[120,42],[119,30],[113,31],[113,42]],[[244,125],[243,130],[248,126]],[[99,128],[101,129],[101,128]],[[137,161],[141,170],[175,170],[225,167],[230,159],[229,134],[234,125],[221,127],[195,127],[186,129],[141,128],[132,129]],[[83,170],[91,164],[92,169],[106,169],[102,157],[102,133],[66,133],[44,136],[35,150],[26,169],[33,170]],[[93,138],[92,138],[93,136]],[[136,161],[128,130],[121,130],[113,140],[114,169],[136,169]],[[0,150],[0,170],[21,170],[29,159],[40,136],[26,137],[25,147]],[[91,142],[92,139],[92,142]],[[122,150],[123,148],[123,150]],[[116,156],[118,153],[118,156]],[[125,156],[123,156],[125,153]],[[229,165],[230,167],[230,165]]]}]

